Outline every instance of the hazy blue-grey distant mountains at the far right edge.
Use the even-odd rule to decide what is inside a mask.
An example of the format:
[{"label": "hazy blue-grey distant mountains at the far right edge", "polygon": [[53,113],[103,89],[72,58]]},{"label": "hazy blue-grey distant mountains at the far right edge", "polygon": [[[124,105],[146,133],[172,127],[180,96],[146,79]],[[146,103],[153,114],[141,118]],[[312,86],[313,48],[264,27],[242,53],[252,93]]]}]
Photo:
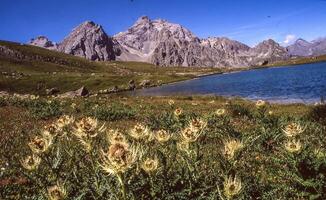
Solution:
[{"label": "hazy blue-grey distant mountains at the far right edge", "polygon": [[298,39],[294,44],[287,47],[289,54],[292,56],[320,56],[326,54],[326,38],[320,38],[307,42]]}]

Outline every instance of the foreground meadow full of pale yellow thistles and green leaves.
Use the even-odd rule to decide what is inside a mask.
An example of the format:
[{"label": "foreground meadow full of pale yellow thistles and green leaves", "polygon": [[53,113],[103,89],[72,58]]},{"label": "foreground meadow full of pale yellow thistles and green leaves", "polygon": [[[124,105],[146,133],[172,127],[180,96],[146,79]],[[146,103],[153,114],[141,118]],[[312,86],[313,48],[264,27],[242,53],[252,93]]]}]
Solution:
[{"label": "foreground meadow full of pale yellow thistles and green leaves", "polygon": [[1,199],[325,199],[324,105],[0,98]]}]

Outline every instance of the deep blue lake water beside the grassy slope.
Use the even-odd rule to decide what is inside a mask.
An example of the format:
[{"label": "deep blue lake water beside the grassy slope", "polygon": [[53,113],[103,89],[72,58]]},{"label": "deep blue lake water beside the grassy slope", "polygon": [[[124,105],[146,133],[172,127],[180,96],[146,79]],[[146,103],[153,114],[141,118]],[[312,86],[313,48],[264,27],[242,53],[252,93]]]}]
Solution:
[{"label": "deep blue lake water beside the grassy slope", "polygon": [[326,62],[205,76],[137,90],[133,95],[218,95],[280,103],[314,103],[326,97]]}]

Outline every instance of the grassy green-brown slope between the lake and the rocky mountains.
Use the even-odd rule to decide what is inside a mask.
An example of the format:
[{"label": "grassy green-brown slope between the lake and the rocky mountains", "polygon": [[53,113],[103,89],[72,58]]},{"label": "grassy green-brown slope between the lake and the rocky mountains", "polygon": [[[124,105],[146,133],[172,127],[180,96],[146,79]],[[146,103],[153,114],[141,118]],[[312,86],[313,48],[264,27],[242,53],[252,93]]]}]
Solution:
[{"label": "grassy green-brown slope between the lake and the rocky mountains", "polygon": [[[126,86],[133,79],[140,83],[149,79],[153,84],[169,83],[194,78],[220,69],[192,67],[157,67],[139,62],[91,62],[83,58],[49,51],[43,48],[0,41],[0,45],[17,50],[24,55],[55,58],[64,65],[36,60],[17,60],[0,56],[1,72],[22,72],[28,76],[20,79],[0,75],[0,90],[21,93],[44,93],[45,88],[57,87],[61,91],[78,89],[82,85],[91,90],[108,89],[112,86]],[[53,74],[55,72],[55,74]],[[41,85],[41,90],[37,90]]]}]

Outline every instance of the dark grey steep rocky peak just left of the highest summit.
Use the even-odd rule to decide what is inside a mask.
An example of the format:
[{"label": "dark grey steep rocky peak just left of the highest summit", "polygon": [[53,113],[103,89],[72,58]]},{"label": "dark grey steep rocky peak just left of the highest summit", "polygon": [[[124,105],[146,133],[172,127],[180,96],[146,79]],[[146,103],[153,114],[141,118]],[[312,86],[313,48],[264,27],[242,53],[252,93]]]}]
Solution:
[{"label": "dark grey steep rocky peak just left of the highest summit", "polygon": [[89,60],[114,60],[115,53],[112,39],[103,28],[94,22],[87,21],[76,27],[62,43],[59,51]]}]

